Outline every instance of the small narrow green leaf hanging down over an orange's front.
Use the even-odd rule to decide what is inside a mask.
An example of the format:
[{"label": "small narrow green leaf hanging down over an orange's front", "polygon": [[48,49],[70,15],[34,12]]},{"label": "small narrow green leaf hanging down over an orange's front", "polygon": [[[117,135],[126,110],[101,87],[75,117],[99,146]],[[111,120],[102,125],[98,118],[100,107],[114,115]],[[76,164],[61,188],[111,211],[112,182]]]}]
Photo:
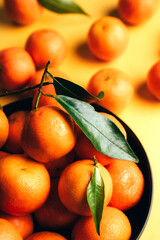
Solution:
[{"label": "small narrow green leaf hanging down over an orange's front", "polygon": [[87,201],[92,212],[96,231],[100,235],[100,222],[104,205],[104,182],[97,166],[87,186]]}]

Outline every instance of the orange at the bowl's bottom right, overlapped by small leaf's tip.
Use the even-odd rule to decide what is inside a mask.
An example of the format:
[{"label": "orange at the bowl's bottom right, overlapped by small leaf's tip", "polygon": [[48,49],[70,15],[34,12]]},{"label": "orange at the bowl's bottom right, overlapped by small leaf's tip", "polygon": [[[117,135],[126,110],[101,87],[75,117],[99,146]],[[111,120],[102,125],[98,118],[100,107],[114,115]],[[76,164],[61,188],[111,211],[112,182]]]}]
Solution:
[{"label": "orange at the bowl's bottom right, overlapped by small leaf's tip", "polygon": [[93,217],[81,217],[72,230],[72,240],[129,240],[131,225],[127,216],[119,209],[104,207],[97,234]]}]

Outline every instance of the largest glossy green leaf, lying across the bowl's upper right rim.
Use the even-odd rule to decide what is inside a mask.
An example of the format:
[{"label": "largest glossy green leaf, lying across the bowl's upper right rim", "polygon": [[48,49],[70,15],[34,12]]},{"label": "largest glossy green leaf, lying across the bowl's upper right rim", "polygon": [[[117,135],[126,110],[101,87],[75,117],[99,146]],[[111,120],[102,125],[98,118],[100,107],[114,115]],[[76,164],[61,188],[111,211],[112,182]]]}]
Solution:
[{"label": "largest glossy green leaf, lying across the bowl's upper right rim", "polygon": [[55,99],[91,140],[95,148],[111,157],[138,162],[119,128],[90,104],[71,97],[57,95]]}]

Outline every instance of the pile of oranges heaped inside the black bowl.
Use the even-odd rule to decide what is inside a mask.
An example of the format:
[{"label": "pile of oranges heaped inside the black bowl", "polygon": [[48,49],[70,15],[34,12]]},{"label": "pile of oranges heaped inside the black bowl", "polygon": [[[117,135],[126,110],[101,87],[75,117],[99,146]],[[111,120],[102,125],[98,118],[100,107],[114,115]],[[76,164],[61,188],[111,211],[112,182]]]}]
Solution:
[{"label": "pile of oranges heaped inside the black bowl", "polygon": [[[136,163],[99,153],[57,106],[17,110],[8,117],[1,109],[0,114],[1,239],[130,239],[132,226],[125,211],[140,201],[144,190]],[[115,117],[100,114],[127,139]],[[104,181],[100,235],[86,194],[93,157]]]}]

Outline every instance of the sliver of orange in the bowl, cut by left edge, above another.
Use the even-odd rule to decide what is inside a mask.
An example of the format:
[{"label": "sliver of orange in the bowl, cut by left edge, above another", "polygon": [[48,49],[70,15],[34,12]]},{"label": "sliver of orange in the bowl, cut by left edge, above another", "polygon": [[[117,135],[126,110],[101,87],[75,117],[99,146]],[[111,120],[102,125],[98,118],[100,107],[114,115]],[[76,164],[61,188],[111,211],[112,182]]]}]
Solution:
[{"label": "sliver of orange in the bowl, cut by left edge, above another", "polygon": [[0,148],[5,144],[9,133],[9,122],[6,114],[0,109]]}]

